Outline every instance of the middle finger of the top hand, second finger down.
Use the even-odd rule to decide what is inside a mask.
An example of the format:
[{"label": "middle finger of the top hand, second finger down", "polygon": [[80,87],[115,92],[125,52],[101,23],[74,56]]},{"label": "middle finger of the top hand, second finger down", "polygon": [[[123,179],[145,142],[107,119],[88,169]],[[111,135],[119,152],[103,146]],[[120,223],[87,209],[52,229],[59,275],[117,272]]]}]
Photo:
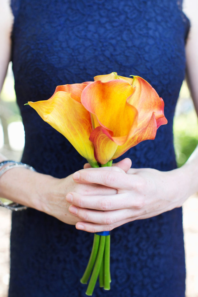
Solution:
[{"label": "middle finger of the top hand, second finger down", "polygon": [[[109,211],[124,208],[140,209],[142,202],[133,197],[129,193],[120,193],[117,195],[81,195],[79,193],[70,192],[66,195],[67,202],[81,207],[101,211]],[[141,202],[141,203],[140,203]]]}]

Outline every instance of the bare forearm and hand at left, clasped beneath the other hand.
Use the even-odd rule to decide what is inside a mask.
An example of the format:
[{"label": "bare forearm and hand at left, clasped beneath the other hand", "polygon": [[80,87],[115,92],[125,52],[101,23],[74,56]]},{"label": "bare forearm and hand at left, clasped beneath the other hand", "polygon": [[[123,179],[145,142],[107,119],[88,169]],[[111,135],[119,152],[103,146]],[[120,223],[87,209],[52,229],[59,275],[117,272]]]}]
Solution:
[{"label": "bare forearm and hand at left, clasped beneath the other hand", "polygon": [[[1,159],[5,157],[1,156]],[[125,159],[119,162],[118,166],[128,171],[131,161]],[[0,178],[1,197],[43,211],[67,224],[75,225],[82,219],[68,211],[71,205],[65,199],[68,192],[84,196],[100,196],[113,195],[117,191],[100,184],[78,183],[73,180],[72,175],[60,179],[25,168],[13,168]]]}]

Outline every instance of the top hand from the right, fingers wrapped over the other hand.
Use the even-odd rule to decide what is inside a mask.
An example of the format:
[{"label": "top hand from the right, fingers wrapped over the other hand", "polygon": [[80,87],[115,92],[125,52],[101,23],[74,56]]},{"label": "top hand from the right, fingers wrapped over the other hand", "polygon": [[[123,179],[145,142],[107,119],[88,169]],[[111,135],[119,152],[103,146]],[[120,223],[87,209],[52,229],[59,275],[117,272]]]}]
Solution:
[{"label": "top hand from the right, fingers wrapped over the other hand", "polygon": [[78,219],[76,228],[88,232],[112,230],[136,219],[146,219],[180,207],[189,196],[189,184],[181,168],[168,172],[155,169],[90,168],[73,175],[81,184],[101,184],[116,190],[110,195],[71,192],[66,200]]}]

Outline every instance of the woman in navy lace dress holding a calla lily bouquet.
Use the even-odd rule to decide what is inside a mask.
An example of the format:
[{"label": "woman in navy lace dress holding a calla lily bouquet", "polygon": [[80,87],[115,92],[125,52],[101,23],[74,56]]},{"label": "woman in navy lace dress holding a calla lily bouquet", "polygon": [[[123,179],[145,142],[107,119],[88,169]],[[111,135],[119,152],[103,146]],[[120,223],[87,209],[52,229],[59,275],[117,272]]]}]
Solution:
[{"label": "woman in navy lace dress holding a calla lily bouquet", "polygon": [[[185,296],[180,206],[198,190],[198,157],[176,169],[172,119],[189,29],[181,1],[13,0],[13,25],[1,2],[1,84],[11,59],[26,133],[22,162],[37,170],[15,168],[0,178],[1,196],[29,207],[12,216],[9,297],[84,296],[79,279],[91,233],[115,227],[112,288],[97,288],[95,296]],[[186,57],[198,111],[194,2],[186,4]],[[112,168],[80,170],[85,160],[24,103],[48,99],[56,85],[112,71],[148,80],[164,99],[168,124],[123,156],[132,168],[127,158]]]}]

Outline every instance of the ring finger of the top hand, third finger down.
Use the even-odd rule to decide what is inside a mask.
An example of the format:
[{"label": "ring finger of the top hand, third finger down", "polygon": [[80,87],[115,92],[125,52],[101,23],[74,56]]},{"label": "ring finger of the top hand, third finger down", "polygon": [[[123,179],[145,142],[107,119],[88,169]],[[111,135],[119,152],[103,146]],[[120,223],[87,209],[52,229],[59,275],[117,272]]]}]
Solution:
[{"label": "ring finger of the top hand, third finger down", "polygon": [[123,219],[131,218],[133,214],[133,211],[127,208],[112,211],[98,211],[80,208],[74,205],[69,206],[69,212],[83,221],[101,225],[112,225]]}]

